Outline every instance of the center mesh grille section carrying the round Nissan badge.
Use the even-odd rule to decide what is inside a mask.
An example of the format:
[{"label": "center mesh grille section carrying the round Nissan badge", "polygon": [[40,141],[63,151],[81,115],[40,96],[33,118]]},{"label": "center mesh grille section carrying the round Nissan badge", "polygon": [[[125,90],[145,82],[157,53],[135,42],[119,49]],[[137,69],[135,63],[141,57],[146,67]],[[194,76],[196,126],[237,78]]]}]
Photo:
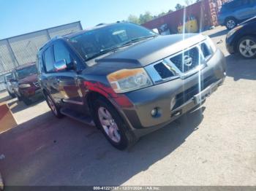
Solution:
[{"label": "center mesh grille section carrying the round Nissan badge", "polygon": [[183,73],[195,69],[200,64],[200,52],[197,47],[170,58],[170,61]]}]

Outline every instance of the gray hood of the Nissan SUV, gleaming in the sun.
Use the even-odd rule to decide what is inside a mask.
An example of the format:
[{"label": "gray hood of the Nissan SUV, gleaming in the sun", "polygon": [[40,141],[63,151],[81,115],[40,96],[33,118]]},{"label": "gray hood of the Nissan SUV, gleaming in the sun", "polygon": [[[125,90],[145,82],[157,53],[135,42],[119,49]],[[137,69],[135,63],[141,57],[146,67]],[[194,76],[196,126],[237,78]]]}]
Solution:
[{"label": "gray hood of the Nissan SUV, gleaming in the sun", "polygon": [[98,63],[113,63],[113,66],[120,63],[132,63],[137,67],[147,66],[175,54],[181,50],[191,47],[206,39],[201,34],[173,34],[167,36],[157,36],[138,42],[130,47],[118,50],[110,55],[97,60]]}]

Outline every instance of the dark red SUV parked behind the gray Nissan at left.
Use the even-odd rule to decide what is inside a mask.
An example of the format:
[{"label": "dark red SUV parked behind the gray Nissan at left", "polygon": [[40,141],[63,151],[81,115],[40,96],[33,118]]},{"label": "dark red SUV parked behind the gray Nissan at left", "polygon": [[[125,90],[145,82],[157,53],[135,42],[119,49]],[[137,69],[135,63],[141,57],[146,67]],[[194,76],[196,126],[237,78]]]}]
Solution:
[{"label": "dark red SUV parked behind the gray Nissan at left", "polygon": [[37,66],[35,63],[28,63],[12,71],[13,90],[20,101],[26,105],[32,104],[34,100],[42,97],[42,90],[37,82]]}]

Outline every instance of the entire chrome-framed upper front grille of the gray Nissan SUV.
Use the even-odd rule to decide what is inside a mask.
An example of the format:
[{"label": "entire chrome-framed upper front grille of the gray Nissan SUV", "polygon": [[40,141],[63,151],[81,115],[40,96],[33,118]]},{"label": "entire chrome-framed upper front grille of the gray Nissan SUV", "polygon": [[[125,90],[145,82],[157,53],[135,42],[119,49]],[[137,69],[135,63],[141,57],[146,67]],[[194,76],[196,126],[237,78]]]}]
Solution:
[{"label": "entire chrome-framed upper front grille of the gray Nissan SUV", "polygon": [[154,84],[187,77],[203,69],[213,51],[207,40],[145,67]]}]

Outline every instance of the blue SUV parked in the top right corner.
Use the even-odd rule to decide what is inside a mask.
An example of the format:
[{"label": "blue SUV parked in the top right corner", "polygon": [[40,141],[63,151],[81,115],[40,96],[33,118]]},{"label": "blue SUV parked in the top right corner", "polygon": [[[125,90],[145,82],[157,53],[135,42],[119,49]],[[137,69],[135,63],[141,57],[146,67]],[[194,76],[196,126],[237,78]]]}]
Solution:
[{"label": "blue SUV parked in the top right corner", "polygon": [[219,24],[231,30],[238,23],[256,16],[256,0],[233,0],[223,4],[218,15]]}]

